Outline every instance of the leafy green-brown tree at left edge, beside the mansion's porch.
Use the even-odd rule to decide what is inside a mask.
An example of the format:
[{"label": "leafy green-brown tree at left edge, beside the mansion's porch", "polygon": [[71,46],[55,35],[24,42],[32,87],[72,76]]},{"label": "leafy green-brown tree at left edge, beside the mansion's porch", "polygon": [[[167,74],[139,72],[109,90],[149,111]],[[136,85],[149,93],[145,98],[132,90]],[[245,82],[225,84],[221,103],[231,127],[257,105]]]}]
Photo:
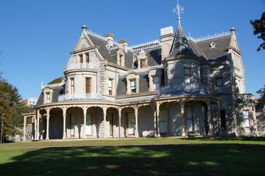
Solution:
[{"label": "leafy green-brown tree at left edge, beside the mansion's porch", "polygon": [[12,86],[4,79],[0,80],[0,118],[1,115],[4,114],[4,136],[20,134],[18,128],[22,127],[24,120],[22,113],[33,111],[32,107],[27,107],[22,104],[21,99],[22,97],[18,93],[16,87]]}]

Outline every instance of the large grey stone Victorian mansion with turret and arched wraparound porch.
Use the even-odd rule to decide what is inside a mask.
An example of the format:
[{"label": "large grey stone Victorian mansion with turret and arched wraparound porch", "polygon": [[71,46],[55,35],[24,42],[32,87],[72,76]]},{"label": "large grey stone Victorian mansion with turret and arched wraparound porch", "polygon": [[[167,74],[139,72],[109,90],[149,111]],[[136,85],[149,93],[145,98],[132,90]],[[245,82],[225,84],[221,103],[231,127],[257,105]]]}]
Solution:
[{"label": "large grey stone Victorian mansion with turret and arched wraparound porch", "polygon": [[234,27],[205,38],[179,24],[129,47],[82,26],[61,83],[43,86],[33,139],[257,136]]}]

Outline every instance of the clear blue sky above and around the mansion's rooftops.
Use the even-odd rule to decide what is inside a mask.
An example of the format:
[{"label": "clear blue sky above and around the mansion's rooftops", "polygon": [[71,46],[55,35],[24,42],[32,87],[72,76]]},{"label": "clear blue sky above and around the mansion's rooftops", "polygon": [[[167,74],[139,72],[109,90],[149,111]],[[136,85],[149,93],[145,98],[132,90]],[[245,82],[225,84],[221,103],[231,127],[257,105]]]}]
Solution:
[{"label": "clear blue sky above and around the mansion's rooftops", "polygon": [[[265,51],[262,40],[252,34],[250,19],[260,18],[264,0],[180,0],[185,10],[181,23],[185,33],[198,38],[229,31],[243,54],[247,93],[265,84]],[[38,97],[40,82],[63,76],[81,26],[97,33],[114,33],[115,40],[129,45],[159,38],[160,28],[173,26],[175,0],[134,1],[7,1],[0,2],[0,70],[20,90],[23,98]]]}]

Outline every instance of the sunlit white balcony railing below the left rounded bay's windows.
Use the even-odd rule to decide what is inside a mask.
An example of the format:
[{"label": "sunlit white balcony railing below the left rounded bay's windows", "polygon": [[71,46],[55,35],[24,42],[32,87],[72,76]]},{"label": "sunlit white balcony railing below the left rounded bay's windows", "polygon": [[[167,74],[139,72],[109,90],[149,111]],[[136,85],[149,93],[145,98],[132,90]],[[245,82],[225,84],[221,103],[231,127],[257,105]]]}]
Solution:
[{"label": "sunlit white balcony railing below the left rounded bay's windows", "polygon": [[58,97],[58,102],[63,101],[81,101],[81,100],[102,100],[103,96],[100,93],[75,93],[62,94]]}]

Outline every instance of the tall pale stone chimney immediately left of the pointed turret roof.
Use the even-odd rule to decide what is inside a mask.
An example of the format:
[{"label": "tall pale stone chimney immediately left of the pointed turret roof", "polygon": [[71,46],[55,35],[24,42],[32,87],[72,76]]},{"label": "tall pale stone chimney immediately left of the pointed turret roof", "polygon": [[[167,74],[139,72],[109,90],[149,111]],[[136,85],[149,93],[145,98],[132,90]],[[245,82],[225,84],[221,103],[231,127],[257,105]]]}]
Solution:
[{"label": "tall pale stone chimney immediately left of the pointed turret roof", "polygon": [[166,28],[160,29],[160,44],[161,44],[161,54],[162,60],[169,55],[170,48],[174,40],[173,27],[168,26]]}]

